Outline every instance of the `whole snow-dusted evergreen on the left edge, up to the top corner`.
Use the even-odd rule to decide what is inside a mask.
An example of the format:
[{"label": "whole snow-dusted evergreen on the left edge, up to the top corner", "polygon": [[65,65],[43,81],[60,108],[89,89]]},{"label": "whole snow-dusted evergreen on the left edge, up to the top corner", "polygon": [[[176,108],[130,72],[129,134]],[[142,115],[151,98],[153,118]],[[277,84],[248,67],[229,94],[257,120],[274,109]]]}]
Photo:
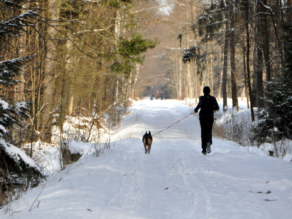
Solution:
[{"label": "whole snow-dusted evergreen on the left edge, up to the top corner", "polygon": [[[9,8],[12,10],[21,7],[10,1],[0,1],[0,8],[8,11]],[[24,27],[32,25],[28,20],[35,15],[36,13],[31,10],[0,22],[1,57],[5,57],[3,54],[7,49],[3,45],[12,45],[13,39],[25,32]],[[9,128],[15,123],[20,124],[22,119],[28,117],[26,102],[14,102],[12,98],[7,97],[6,92],[18,83],[16,77],[29,58],[27,56],[0,61],[0,192],[7,191],[8,187],[13,191],[15,185],[34,186],[42,178],[35,162],[18,147],[5,140],[9,135]]]}]

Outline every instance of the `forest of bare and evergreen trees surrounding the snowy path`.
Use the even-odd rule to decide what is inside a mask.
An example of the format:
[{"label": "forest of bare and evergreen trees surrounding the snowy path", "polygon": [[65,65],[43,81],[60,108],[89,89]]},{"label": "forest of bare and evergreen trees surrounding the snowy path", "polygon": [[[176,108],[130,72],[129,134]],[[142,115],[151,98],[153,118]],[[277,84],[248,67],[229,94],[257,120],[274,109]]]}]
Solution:
[{"label": "forest of bare and evergreen trees surrounding the snowy path", "polygon": [[232,98],[237,111],[245,97],[258,119],[254,139],[292,139],[291,0],[0,0],[0,8],[1,204],[45,178],[21,155],[34,159],[34,142],[53,143],[58,129],[65,167],[66,120],[82,118],[75,128],[88,133],[77,137],[91,141],[94,128],[117,126],[131,101],[157,90],[197,100],[210,86],[223,109]]}]

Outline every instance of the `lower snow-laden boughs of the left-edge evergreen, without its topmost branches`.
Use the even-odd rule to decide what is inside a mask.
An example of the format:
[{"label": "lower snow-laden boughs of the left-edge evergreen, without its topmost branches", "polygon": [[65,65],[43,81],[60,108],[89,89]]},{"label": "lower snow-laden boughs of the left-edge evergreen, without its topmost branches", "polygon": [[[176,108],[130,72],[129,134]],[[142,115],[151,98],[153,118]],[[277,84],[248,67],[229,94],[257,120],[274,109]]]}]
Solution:
[{"label": "lower snow-laden boughs of the left-edge evergreen, without its topmost branches", "polygon": [[[14,79],[28,57],[0,62],[0,178],[2,190],[14,186],[35,186],[42,178],[39,167],[18,147],[6,142],[9,128],[21,119],[26,119],[26,102],[16,103],[3,95],[3,89],[16,84]],[[5,91],[5,90],[4,90]],[[1,192],[1,191],[0,191]]]}]

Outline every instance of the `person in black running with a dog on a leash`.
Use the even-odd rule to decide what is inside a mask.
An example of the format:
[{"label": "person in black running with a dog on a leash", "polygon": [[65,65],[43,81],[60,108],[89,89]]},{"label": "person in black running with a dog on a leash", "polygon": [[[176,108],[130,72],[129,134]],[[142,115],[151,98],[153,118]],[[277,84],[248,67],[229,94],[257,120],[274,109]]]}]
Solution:
[{"label": "person in black running with a dog on a leash", "polygon": [[206,155],[211,152],[214,110],[218,110],[219,105],[216,98],[210,95],[209,87],[204,87],[203,93],[204,96],[199,97],[199,103],[194,111],[197,113],[201,108],[199,120],[201,125],[202,154]]}]

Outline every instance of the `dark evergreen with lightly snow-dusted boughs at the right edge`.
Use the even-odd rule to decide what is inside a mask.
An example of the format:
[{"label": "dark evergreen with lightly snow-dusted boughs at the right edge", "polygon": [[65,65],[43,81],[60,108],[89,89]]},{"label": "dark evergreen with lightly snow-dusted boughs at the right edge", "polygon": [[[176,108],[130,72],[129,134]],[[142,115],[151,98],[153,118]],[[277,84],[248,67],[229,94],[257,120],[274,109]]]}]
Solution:
[{"label": "dark evergreen with lightly snow-dusted boughs at the right edge", "polygon": [[259,143],[292,139],[292,40],[288,48],[281,74],[267,84],[270,99],[264,99],[266,107],[257,112],[259,121],[254,133]]}]

